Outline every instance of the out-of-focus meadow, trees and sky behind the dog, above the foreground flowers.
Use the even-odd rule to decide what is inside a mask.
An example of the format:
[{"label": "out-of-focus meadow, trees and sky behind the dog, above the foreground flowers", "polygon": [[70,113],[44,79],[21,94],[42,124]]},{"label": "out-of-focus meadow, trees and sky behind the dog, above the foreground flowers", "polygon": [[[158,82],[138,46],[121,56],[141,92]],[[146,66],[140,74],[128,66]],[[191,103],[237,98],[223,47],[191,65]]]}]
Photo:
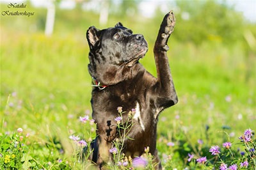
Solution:
[{"label": "out-of-focus meadow, trees and sky behind the dog, above the foreground flowers", "polygon": [[191,141],[205,125],[214,127],[213,134],[223,126],[230,132],[256,128],[253,0],[0,3],[2,132],[23,127],[40,142],[50,134],[66,142],[74,132],[83,134],[76,122],[91,114],[88,27],[104,29],[122,22],[143,34],[149,50],[140,61],[156,75],[152,49],[170,10],[177,22],[168,56],[179,104],[161,114],[159,135],[171,138],[168,129],[175,129],[175,122],[193,134]]}]

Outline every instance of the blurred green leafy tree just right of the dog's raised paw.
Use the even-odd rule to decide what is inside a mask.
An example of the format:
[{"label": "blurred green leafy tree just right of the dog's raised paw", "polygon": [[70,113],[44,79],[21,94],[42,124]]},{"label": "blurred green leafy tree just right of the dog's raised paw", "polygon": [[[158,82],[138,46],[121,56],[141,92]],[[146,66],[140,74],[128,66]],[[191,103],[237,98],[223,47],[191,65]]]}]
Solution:
[{"label": "blurred green leafy tree just right of the dog's raised paw", "polygon": [[243,39],[244,19],[225,1],[177,1],[177,38],[196,44],[204,40],[234,43]]}]

